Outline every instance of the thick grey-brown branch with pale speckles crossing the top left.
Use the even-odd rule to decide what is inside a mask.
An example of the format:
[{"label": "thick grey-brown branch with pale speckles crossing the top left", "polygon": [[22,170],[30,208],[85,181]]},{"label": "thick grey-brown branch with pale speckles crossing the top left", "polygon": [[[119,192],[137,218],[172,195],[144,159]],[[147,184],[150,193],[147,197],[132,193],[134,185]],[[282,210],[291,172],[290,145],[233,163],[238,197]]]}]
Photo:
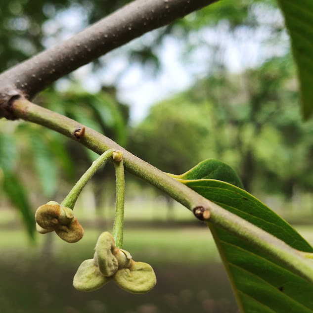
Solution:
[{"label": "thick grey-brown branch with pale speckles crossing the top left", "polygon": [[[37,92],[82,65],[215,1],[135,0],[125,5],[69,40],[2,73],[0,117],[1,98],[7,101],[12,95],[19,94],[31,99]],[[2,113],[2,116],[5,115]]]}]

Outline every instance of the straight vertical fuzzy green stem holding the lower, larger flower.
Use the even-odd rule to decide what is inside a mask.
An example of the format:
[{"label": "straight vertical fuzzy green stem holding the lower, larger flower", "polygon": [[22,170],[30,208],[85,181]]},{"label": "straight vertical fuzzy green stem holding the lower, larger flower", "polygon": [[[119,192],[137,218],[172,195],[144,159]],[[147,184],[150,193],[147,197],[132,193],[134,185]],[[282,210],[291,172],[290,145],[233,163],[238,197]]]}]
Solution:
[{"label": "straight vertical fuzzy green stem holding the lower, larger flower", "polygon": [[[120,156],[120,160],[116,160],[116,157]],[[115,245],[119,249],[123,249],[123,223],[124,223],[124,199],[125,199],[125,177],[124,177],[124,165],[122,160],[123,152],[114,151],[113,161],[116,173],[116,210],[113,226],[113,237]]]}]

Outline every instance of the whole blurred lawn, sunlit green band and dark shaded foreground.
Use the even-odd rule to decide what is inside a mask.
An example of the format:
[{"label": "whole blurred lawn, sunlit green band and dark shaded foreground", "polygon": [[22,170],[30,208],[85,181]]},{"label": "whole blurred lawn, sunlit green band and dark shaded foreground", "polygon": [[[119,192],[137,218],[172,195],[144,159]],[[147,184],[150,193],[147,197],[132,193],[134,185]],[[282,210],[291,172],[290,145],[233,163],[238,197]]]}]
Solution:
[{"label": "whole blurred lawn, sunlit green band and dark shaded foreground", "polygon": [[[5,225],[0,229],[0,312],[236,313],[228,279],[206,225],[189,223],[190,215],[185,213],[178,223],[166,221],[166,210],[157,219],[153,211],[140,210],[147,222],[134,221],[129,214],[124,248],[135,261],[151,264],[156,272],[156,287],[144,295],[129,294],[113,282],[91,293],[72,286],[76,269],[83,260],[92,258],[98,235],[111,230],[111,222],[104,226],[81,220],[85,236],[76,244],[63,242],[51,233],[36,234],[36,244],[31,245],[14,214],[0,215],[0,224]],[[176,209],[174,213],[179,212]],[[78,211],[78,215],[84,217],[83,212]],[[310,226],[296,228],[313,244]]]}]

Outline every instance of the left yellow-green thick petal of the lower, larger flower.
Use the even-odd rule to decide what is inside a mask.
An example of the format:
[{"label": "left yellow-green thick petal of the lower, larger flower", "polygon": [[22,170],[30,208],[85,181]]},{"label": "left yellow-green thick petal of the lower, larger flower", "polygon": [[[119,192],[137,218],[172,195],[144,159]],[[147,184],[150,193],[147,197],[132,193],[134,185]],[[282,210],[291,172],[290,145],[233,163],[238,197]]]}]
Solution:
[{"label": "left yellow-green thick petal of the lower, larger flower", "polygon": [[73,286],[80,291],[92,291],[99,289],[111,280],[111,277],[103,276],[93,259],[85,260],[78,268]]}]

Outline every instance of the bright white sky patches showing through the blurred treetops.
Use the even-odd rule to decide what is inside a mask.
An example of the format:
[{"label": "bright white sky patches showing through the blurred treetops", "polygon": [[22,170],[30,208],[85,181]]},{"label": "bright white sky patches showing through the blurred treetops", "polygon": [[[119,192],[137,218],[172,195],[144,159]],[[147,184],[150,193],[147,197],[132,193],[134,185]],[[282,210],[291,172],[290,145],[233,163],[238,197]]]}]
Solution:
[{"label": "bright white sky patches showing through the blurred treetops", "polygon": [[[52,6],[45,7],[46,14],[53,10]],[[257,16],[265,24],[283,23],[279,11],[268,14],[258,8]],[[53,13],[52,11],[50,12]],[[87,26],[88,13],[78,5],[58,13],[53,19],[43,25],[45,33],[44,45],[50,47],[61,40],[71,37]],[[130,106],[130,121],[135,125],[147,115],[151,105],[173,96],[175,93],[190,88],[197,80],[205,77],[212,67],[214,60],[223,58],[226,69],[232,73],[239,73],[246,68],[260,65],[268,57],[284,55],[289,49],[287,34],[284,45],[268,42],[269,29],[261,27],[256,31],[240,28],[230,35],[226,27],[220,23],[219,27],[203,28],[194,35],[199,41],[197,48],[188,55],[186,61],[185,43],[174,36],[166,36],[162,44],[154,51],[160,59],[160,70],[157,75],[152,74],[148,67],[143,68],[139,63],[128,63],[127,50],[140,48],[142,45],[153,43],[156,32],[149,32],[130,44],[107,53],[100,58],[103,67],[94,73],[92,65],[88,64],[72,73],[72,77],[82,82],[82,86],[89,92],[98,92],[102,85],[117,86],[119,101]],[[219,46],[221,55],[213,55],[211,46]],[[59,91],[69,88],[67,79],[60,79],[56,83]]]}]

